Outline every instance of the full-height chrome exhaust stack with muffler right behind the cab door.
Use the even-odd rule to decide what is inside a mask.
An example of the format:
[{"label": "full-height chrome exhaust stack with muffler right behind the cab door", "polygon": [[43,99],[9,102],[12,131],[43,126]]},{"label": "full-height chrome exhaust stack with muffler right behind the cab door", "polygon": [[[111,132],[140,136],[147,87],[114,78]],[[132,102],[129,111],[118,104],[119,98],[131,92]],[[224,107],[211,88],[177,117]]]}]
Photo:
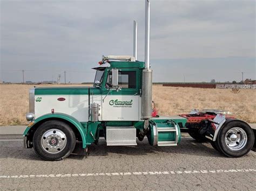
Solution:
[{"label": "full-height chrome exhaust stack with muffler right behind the cab door", "polygon": [[149,119],[152,117],[152,69],[150,69],[150,0],[145,0],[145,69],[142,72],[142,119],[144,129],[139,133],[143,140],[149,131]]}]

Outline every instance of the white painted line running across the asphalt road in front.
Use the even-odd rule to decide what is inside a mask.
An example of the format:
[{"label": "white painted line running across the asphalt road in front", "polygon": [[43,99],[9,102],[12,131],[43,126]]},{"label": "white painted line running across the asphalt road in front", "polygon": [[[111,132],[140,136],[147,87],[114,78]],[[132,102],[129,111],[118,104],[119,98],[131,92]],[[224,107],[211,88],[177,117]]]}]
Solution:
[{"label": "white painted line running across the asphalt road in front", "polygon": [[198,171],[146,171],[146,172],[115,172],[115,173],[80,173],[80,174],[38,174],[38,175],[0,175],[0,179],[23,179],[23,178],[62,178],[82,176],[126,176],[126,175],[168,175],[168,174],[205,174],[205,173],[239,173],[255,172],[256,169],[215,169]]}]

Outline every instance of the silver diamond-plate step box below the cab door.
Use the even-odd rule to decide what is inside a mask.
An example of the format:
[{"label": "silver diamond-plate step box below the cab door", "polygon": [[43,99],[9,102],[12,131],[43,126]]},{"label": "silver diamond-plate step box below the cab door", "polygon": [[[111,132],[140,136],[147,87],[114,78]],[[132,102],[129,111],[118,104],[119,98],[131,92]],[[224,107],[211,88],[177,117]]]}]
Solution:
[{"label": "silver diamond-plate step box below the cab door", "polygon": [[107,146],[137,145],[134,126],[106,126]]}]

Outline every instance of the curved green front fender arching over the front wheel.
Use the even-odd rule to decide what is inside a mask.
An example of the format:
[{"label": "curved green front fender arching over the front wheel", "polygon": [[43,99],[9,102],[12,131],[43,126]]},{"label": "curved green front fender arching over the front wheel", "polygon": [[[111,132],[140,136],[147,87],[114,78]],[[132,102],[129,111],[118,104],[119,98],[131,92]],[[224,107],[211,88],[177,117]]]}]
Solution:
[{"label": "curved green front fender arching over the front wheel", "polygon": [[76,118],[63,113],[45,114],[41,117],[36,118],[33,124],[30,123],[30,125],[25,129],[23,137],[25,138],[26,136],[28,136],[28,133],[30,133],[31,130],[37,128],[43,122],[52,119],[62,119],[62,121],[69,122],[73,126],[75,126],[82,138],[83,148],[86,148],[86,128],[84,128],[84,126]]}]

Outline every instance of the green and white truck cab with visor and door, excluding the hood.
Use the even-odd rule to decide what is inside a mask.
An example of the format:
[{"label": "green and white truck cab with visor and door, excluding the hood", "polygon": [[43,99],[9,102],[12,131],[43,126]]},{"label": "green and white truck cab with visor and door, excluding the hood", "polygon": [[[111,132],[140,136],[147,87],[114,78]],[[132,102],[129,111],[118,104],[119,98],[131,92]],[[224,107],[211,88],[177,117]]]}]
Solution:
[{"label": "green and white truck cab with visor and door, excluding the hood", "polygon": [[[142,120],[144,67],[145,63],[140,61],[109,61],[93,68],[96,69],[96,76],[90,89],[90,100],[99,104],[99,121]],[[114,86],[113,71],[118,78]]]}]

